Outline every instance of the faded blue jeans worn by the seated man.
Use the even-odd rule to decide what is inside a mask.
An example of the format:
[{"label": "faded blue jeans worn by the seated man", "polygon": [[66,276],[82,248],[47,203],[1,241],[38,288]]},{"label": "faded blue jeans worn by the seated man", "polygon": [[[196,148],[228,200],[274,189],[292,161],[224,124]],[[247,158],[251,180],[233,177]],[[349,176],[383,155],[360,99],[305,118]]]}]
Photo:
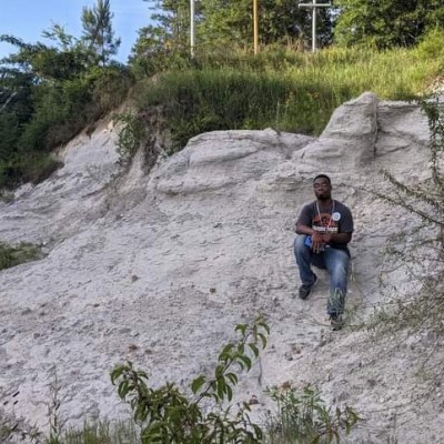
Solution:
[{"label": "faded blue jeans worn by the seated man", "polygon": [[347,250],[326,248],[314,253],[305,245],[306,235],[301,234],[294,240],[294,256],[299,266],[301,281],[311,285],[314,280],[311,265],[324,269],[330,275],[330,295],[326,306],[327,314],[344,312],[345,295],[349,281],[350,255]]}]

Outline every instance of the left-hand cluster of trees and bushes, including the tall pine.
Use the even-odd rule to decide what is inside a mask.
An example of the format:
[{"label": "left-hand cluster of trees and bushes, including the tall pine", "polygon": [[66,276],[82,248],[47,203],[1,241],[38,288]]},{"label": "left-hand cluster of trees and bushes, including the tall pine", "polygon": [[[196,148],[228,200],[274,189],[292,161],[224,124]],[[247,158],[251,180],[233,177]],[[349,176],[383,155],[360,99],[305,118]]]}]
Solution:
[{"label": "left-hand cluster of trees and bushes, including the tall pine", "polygon": [[0,41],[16,48],[0,60],[0,188],[38,181],[54,168],[49,152],[103,115],[125,94],[128,70],[112,61],[110,0],[97,0],[81,17],[83,36],[60,24],[42,36],[50,44],[14,36]]}]

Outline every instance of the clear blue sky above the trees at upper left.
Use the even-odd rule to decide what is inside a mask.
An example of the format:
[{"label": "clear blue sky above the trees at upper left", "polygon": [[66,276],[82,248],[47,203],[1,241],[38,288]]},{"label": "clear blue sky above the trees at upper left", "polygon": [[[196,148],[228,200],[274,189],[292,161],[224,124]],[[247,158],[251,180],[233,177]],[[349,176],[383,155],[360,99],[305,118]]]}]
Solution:
[{"label": "clear blue sky above the trees at upper left", "polygon": [[[37,41],[51,44],[41,37],[53,23],[64,27],[69,34],[80,37],[82,32],[82,8],[91,8],[95,0],[0,0],[0,34],[12,34],[27,43]],[[150,22],[152,1],[111,0],[114,13],[114,36],[122,39],[117,59],[125,62],[138,30]],[[0,43],[0,58],[14,52],[14,47]]]}]

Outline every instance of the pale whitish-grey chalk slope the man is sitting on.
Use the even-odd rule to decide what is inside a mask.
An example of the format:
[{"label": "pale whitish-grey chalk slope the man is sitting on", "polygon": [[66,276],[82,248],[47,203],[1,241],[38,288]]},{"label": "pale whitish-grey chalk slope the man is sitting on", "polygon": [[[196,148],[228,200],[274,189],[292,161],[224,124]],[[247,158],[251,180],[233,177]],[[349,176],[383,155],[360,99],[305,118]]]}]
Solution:
[{"label": "pale whitish-grey chalk slope the man is sitting on", "polygon": [[[17,401],[17,416],[44,425],[56,369],[71,424],[122,417],[113,365],[131,360],[154,385],[185,384],[212,370],[236,323],[262,312],[270,345],[239,387],[239,398],[260,400],[258,417],[266,386],[311,382],[364,417],[353,442],[391,433],[438,442],[441,394],[418,411],[410,405],[421,393],[417,349],[350,327],[381,299],[387,236],[413,223],[369,190],[387,188],[381,168],[406,183],[428,174],[427,121],[416,105],[365,93],[339,108],[319,139],[270,129],[201,134],[149,174],[141,153],[122,170],[115,139],[111,125],[75,139],[60,152],[64,168],[0,206],[1,241],[39,242],[48,253],[1,272],[0,405],[19,391],[4,408]],[[294,299],[294,222],[321,172],[355,219],[353,310],[339,333],[325,321],[324,273],[309,301]]]}]

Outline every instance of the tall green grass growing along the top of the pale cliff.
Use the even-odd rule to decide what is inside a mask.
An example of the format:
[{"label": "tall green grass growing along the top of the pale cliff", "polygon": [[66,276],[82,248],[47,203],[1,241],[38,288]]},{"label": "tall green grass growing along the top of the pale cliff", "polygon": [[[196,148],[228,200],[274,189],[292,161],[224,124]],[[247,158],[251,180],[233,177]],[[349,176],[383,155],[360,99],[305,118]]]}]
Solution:
[{"label": "tall green grass growing along the top of the pale cliff", "polygon": [[[440,34],[441,36],[441,34]],[[285,48],[219,49],[137,84],[141,113],[162,105],[171,152],[213,130],[265,129],[319,135],[335,108],[372,91],[382,99],[412,100],[443,72],[435,36],[413,50],[331,48],[314,54]]]}]

